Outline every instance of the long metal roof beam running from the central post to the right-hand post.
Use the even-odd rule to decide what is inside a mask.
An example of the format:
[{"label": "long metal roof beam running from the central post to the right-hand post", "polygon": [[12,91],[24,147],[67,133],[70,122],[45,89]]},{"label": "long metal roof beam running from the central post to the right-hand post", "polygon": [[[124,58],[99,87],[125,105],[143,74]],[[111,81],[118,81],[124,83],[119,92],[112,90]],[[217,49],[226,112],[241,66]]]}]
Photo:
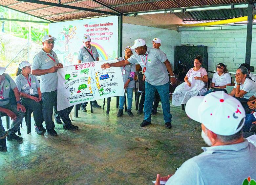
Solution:
[{"label": "long metal roof beam running from the central post to the right-hand post", "polygon": [[[256,5],[256,4],[255,4]],[[222,4],[222,5],[207,5],[207,6],[198,6],[198,7],[182,7],[182,8],[174,8],[174,9],[166,9],[166,12],[169,13],[173,11],[173,13],[181,13],[185,8],[186,12],[188,11],[203,11],[203,10],[216,10],[216,9],[231,9],[234,8],[247,8],[247,3],[236,3],[236,4]],[[155,13],[164,13],[165,9],[152,10],[152,11],[140,11],[140,12],[131,12],[124,13],[126,16],[133,16],[135,13],[137,15],[145,15],[145,14],[155,14]]]}]

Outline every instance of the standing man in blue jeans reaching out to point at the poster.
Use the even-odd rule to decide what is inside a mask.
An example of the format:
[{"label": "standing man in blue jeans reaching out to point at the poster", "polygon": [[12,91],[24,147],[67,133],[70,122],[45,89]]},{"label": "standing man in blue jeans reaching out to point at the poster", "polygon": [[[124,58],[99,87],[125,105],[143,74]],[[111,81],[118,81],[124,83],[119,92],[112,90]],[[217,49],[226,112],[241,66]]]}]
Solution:
[{"label": "standing man in blue jeans reaching out to point at the poster", "polygon": [[[141,127],[151,124],[151,112],[155,91],[157,90],[162,101],[163,116],[165,127],[172,128],[172,115],[170,114],[169,102],[169,77],[172,83],[176,83],[172,67],[168,61],[166,54],[160,49],[149,48],[143,39],[137,39],[131,49],[135,49],[136,54],[127,60],[119,61],[112,64],[103,64],[101,68],[122,67],[129,64],[139,63],[143,72],[145,72],[145,102],[144,102],[144,120],[140,124]],[[168,71],[167,71],[168,70]]]}]

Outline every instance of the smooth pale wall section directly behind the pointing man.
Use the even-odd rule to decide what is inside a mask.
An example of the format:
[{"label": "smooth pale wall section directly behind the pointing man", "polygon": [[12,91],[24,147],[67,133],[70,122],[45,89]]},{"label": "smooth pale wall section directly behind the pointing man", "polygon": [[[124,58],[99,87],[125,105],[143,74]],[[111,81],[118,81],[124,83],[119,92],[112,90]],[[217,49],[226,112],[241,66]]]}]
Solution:
[{"label": "smooth pale wall section directly behind the pointing man", "polygon": [[[123,23],[123,44],[122,47],[134,45],[134,41],[142,38],[146,45],[152,47],[152,40],[158,37],[162,43],[160,49],[166,53],[168,60],[173,66],[174,46],[181,45],[181,33],[175,30],[153,28],[134,24]],[[123,51],[124,55],[124,51]]]}]

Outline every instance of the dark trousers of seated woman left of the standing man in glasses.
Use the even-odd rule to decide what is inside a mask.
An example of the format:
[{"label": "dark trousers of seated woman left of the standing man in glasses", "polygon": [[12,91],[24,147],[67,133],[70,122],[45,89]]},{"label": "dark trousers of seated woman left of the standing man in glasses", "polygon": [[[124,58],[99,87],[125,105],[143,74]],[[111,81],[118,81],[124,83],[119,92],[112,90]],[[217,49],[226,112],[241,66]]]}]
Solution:
[{"label": "dark trousers of seated woman left of the standing man in glasses", "polygon": [[[38,98],[38,94],[32,95]],[[22,104],[26,109],[33,110],[33,118],[35,120],[35,126],[41,126],[44,122],[43,112],[42,112],[42,101],[36,102],[29,98],[21,98]]]}]

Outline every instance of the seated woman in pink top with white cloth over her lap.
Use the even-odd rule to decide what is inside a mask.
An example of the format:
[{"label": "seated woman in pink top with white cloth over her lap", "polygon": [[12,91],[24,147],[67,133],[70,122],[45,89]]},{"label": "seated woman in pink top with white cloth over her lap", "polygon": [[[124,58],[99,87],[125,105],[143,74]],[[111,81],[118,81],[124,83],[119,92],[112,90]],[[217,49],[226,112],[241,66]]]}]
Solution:
[{"label": "seated woman in pink top with white cloth over her lap", "polygon": [[208,75],[206,70],[201,67],[203,58],[197,56],[194,60],[194,67],[189,69],[187,75],[184,78],[184,83],[181,83],[176,87],[172,95],[172,104],[180,106],[181,104],[187,103],[187,101],[193,97],[204,95],[207,91],[204,87],[204,83],[208,82]]}]

